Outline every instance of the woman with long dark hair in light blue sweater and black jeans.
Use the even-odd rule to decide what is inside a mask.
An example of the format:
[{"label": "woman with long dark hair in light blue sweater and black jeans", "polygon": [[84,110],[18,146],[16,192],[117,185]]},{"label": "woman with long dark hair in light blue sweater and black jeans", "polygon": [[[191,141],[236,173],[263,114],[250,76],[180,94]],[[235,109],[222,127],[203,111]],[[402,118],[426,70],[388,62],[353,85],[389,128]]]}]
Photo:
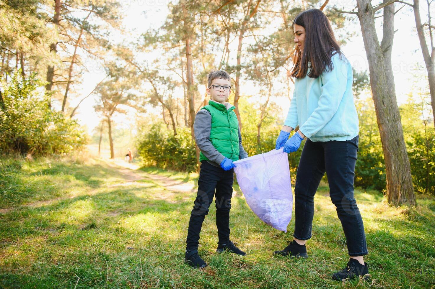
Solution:
[{"label": "woman with long dark hair in light blue sweater and black jeans", "polygon": [[[347,240],[347,267],[334,280],[356,279],[368,274],[363,256],[368,254],[364,226],[354,198],[358,151],[358,114],[352,93],[352,67],[341,53],[331,24],[318,9],[306,10],[293,21],[294,66],[288,72],[295,87],[276,149],[296,151],[307,137],[296,173],[294,240],[274,254],[307,258],[311,238],[314,195],[327,174],[332,203],[337,208]],[[299,125],[299,130],[288,138]],[[367,276],[365,276],[367,277]]]}]

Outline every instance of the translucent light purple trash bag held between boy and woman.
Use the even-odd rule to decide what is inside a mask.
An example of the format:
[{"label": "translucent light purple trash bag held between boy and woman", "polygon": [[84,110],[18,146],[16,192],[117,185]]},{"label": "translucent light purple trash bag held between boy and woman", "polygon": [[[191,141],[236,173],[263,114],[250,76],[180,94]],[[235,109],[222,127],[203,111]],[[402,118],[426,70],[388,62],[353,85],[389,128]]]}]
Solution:
[{"label": "translucent light purple trash bag held between boy and woman", "polygon": [[293,196],[287,153],[283,148],[234,162],[246,203],[264,223],[287,232]]}]

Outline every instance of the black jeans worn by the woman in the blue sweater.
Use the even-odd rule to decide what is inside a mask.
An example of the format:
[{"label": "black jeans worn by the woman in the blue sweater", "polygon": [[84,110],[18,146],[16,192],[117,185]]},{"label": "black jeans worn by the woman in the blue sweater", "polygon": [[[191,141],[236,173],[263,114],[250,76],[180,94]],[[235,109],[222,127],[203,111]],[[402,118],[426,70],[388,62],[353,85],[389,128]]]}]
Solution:
[{"label": "black jeans worn by the woman in the blue sweater", "polygon": [[337,208],[338,219],[346,236],[349,256],[367,255],[364,225],[354,198],[355,163],[358,138],[312,142],[307,139],[299,160],[294,188],[296,239],[311,238],[314,195],[320,180],[328,176],[329,195]]}]

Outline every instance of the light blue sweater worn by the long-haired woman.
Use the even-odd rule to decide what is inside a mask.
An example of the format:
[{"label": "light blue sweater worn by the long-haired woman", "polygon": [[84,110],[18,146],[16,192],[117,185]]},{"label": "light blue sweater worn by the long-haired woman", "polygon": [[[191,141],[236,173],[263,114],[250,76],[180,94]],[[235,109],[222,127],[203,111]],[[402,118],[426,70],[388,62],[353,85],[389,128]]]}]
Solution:
[{"label": "light blue sweater worn by the long-haired woman", "polygon": [[[340,59],[341,57],[341,59]],[[299,130],[313,142],[351,140],[359,133],[352,82],[352,66],[344,55],[331,57],[331,71],[318,78],[296,78],[285,126]]]}]

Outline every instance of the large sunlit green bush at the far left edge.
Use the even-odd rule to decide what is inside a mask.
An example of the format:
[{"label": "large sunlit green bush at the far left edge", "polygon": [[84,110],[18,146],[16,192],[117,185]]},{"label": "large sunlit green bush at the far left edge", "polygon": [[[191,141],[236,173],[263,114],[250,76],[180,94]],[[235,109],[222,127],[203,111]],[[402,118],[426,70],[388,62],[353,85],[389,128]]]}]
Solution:
[{"label": "large sunlit green bush at the far left edge", "polygon": [[61,154],[80,148],[87,137],[76,120],[48,107],[49,96],[35,74],[0,80],[0,151]]}]

